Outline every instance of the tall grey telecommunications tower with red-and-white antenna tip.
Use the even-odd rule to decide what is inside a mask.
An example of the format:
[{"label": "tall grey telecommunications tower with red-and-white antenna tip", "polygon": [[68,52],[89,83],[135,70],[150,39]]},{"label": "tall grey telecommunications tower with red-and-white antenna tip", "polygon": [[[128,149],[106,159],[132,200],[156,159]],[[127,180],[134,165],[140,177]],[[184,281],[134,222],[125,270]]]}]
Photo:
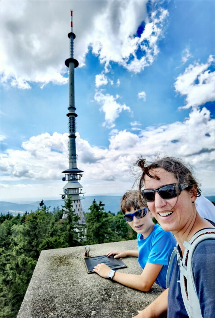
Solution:
[{"label": "tall grey telecommunications tower with red-and-white antenna tip", "polygon": [[[68,38],[70,40],[70,57],[66,59],[65,65],[69,68],[69,107],[68,107],[68,169],[62,171],[65,173],[65,176],[62,178],[63,181],[67,181],[66,185],[63,187],[63,194],[61,198],[65,200],[67,196],[70,196],[73,201],[73,210],[76,215],[80,217],[79,223],[85,223],[81,199],[83,199],[83,192],[81,190],[82,185],[79,183],[82,177],[82,170],[77,168],[77,155],[76,155],[76,145],[75,145],[75,118],[77,114],[75,113],[75,68],[78,66],[78,61],[73,58],[74,54],[74,44],[75,34],[73,33],[73,24],[72,24],[72,13],[71,13],[71,32],[68,33]],[[62,218],[66,218],[66,213],[63,214]]]}]

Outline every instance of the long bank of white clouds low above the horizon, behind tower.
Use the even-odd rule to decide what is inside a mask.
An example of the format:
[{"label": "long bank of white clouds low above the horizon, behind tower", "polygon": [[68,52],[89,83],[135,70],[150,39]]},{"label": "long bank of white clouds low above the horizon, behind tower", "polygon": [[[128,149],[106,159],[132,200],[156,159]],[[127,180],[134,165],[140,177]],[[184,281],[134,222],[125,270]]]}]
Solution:
[{"label": "long bank of white clouds low above the horizon, behind tower", "polygon": [[[97,183],[98,189],[117,185],[128,187],[132,177],[131,167],[139,156],[150,158],[155,153],[177,156],[195,168],[196,175],[204,187],[212,187],[214,174],[214,123],[210,112],[193,109],[184,121],[148,127],[139,135],[127,130],[113,129],[109,147],[92,146],[79,134],[76,138],[78,168],[84,170],[82,185]],[[198,140],[198,142],[196,142]],[[59,180],[67,162],[67,134],[41,134],[23,142],[23,150],[8,149],[2,156],[1,169],[13,179]],[[4,176],[1,177],[1,180]],[[130,183],[130,186],[132,182]],[[116,187],[116,185],[115,185]],[[124,189],[126,190],[126,189]],[[108,190],[106,190],[108,192]],[[109,192],[112,192],[109,189]]]}]

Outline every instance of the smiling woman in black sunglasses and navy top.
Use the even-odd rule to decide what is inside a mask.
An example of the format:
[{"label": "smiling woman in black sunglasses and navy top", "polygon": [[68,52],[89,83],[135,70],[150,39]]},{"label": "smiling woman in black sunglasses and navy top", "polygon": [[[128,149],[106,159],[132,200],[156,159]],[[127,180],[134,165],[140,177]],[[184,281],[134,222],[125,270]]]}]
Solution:
[{"label": "smiling woman in black sunglasses and navy top", "polygon": [[[140,159],[137,164],[142,169],[142,196],[161,227],[174,234],[183,256],[184,241],[189,241],[204,228],[215,228],[196,210],[194,202],[201,193],[198,184],[190,170],[175,158],[164,157],[150,164]],[[214,268],[215,240],[206,239],[197,245],[192,258],[195,288],[203,318],[215,317]],[[135,317],[187,318],[181,283],[180,269],[175,262],[169,288]]]}]

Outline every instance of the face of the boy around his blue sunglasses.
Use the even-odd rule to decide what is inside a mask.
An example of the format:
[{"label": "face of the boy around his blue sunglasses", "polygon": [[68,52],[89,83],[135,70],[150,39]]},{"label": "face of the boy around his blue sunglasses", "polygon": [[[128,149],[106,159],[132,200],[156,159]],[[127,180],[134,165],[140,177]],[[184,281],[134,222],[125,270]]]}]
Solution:
[{"label": "face of the boy around his blue sunglasses", "polygon": [[[125,210],[125,215],[126,214],[131,214],[134,213],[138,210],[134,210],[134,208],[131,208],[131,211]],[[148,236],[151,231],[152,231],[152,225],[154,225],[152,221],[152,213],[148,210],[147,215],[143,218],[136,218],[135,216],[133,217],[133,221],[128,222],[128,224],[133,228],[133,230],[137,233],[142,234],[144,237]]]}]

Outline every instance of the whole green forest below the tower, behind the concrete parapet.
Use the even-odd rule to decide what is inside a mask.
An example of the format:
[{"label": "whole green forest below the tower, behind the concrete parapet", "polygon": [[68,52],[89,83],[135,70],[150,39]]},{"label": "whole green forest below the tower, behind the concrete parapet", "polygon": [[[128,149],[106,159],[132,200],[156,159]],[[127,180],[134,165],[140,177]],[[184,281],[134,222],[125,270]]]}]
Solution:
[{"label": "whole green forest below the tower, behind the concrete parapet", "polygon": [[0,215],[0,318],[17,316],[42,250],[136,239],[122,213],[106,212],[101,201],[93,200],[85,219],[78,223],[70,197],[61,209]]}]

